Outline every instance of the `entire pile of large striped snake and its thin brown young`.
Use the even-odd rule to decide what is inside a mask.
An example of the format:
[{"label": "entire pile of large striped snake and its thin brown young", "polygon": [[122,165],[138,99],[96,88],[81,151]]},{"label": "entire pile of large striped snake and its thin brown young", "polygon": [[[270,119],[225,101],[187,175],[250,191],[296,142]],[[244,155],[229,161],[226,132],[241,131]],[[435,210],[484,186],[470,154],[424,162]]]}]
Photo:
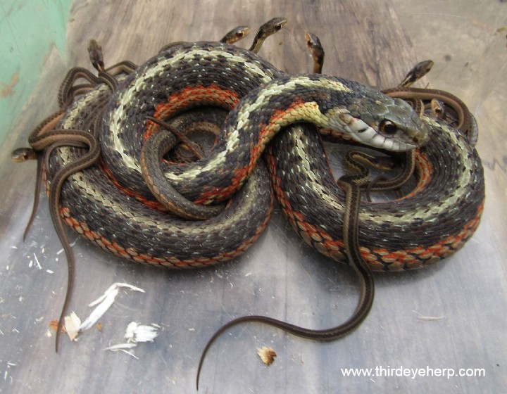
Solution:
[{"label": "entire pile of large striped snake and its thin brown young", "polygon": [[[121,258],[206,267],[249,248],[276,198],[303,241],[358,273],[361,298],[344,324],[309,330],[241,317],[211,338],[199,371],[214,339],[246,321],[322,341],[344,336],[370,310],[373,271],[432,265],[472,236],[484,204],[477,124],[456,96],[411,87],[432,62],[380,92],[324,75],[323,48],[306,34],[313,73],[287,75],[257,54],[285,23],[263,25],[248,50],[233,44],[248,32],[239,27],[219,42],[168,44],[142,65],[106,68],[101,47],[90,42],[97,73],[71,69],[61,109],[30,134],[30,149],[13,153],[14,160],[38,159],[30,222],[45,182],[67,256],[60,325],[74,276],[64,224]],[[335,179],[324,139],[351,147],[349,174]],[[370,167],[398,171],[370,179]],[[390,201],[362,198],[410,180],[408,193]]]}]

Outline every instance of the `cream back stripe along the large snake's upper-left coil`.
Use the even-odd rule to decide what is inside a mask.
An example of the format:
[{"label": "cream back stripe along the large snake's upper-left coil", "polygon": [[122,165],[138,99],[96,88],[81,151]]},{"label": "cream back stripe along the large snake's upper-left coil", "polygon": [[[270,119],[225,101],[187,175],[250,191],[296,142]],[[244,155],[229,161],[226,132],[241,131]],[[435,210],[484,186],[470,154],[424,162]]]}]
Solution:
[{"label": "cream back stripe along the large snake's upper-left coil", "polygon": [[[168,66],[170,66],[171,68],[176,68],[178,67],[178,64],[180,62],[192,63],[192,61],[194,61],[195,58],[204,58],[204,57],[217,58],[218,56],[228,58],[231,65],[241,64],[242,67],[247,68],[253,74],[256,74],[259,77],[261,77],[263,83],[269,82],[271,80],[271,77],[266,75],[264,70],[262,68],[259,68],[259,66],[256,63],[246,61],[246,59],[242,56],[237,56],[232,53],[227,53],[225,51],[206,51],[202,49],[194,49],[192,51],[180,51],[180,53],[175,53],[174,56],[171,58],[163,59],[163,61],[159,61],[158,63],[156,63],[156,65],[151,65],[151,67],[148,68],[142,76],[134,80],[134,84],[132,84],[128,89],[125,89],[124,93],[118,97],[119,105],[111,114],[111,120],[109,122],[109,128],[111,129],[112,135],[112,144],[115,150],[118,151],[118,154],[121,156],[122,160],[124,161],[127,167],[131,168],[134,171],[139,172],[139,174],[142,173],[139,161],[137,160],[137,158],[132,158],[127,153],[125,145],[123,144],[122,139],[120,139],[119,137],[125,116],[122,108],[127,107],[131,103],[132,97],[134,97],[137,94],[137,91],[144,89],[145,87],[144,80],[146,80],[146,78],[155,77],[156,75],[166,70]],[[218,157],[214,161],[216,163],[224,163],[225,155],[218,155]],[[194,173],[191,173],[188,174],[188,178],[186,179],[193,179],[194,177],[195,177]]]}]

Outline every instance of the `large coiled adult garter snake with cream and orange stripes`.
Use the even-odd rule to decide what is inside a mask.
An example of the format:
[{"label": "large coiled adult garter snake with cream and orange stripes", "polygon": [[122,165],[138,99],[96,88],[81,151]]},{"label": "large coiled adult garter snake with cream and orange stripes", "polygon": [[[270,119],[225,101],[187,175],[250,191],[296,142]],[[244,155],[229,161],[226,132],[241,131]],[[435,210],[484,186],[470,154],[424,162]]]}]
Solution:
[{"label": "large coiled adult garter snake with cream and orange stripes", "polygon": [[[394,131],[397,142],[392,136],[370,134],[371,128],[380,127],[382,114],[396,113],[399,101],[391,99],[386,103],[392,104],[383,104],[383,96],[360,84],[332,77],[285,77],[258,56],[226,44],[177,44],[127,76],[113,96],[105,87],[95,89],[68,110],[64,128],[80,125],[91,129],[92,115],[98,108],[106,108],[101,125],[104,163],[101,168],[94,166],[74,174],[63,186],[61,212],[65,221],[106,250],[138,262],[179,268],[233,258],[255,241],[268,222],[272,205],[268,180],[259,167],[261,163],[253,170],[268,140],[277,129],[294,121],[294,113],[296,120],[300,119],[301,105],[308,110],[308,116],[301,120],[311,120],[317,110],[328,115],[334,110],[337,115],[337,109],[327,105],[334,99],[329,101],[329,92],[323,93],[318,84],[321,80],[347,90],[340,98],[343,112],[336,117],[342,120],[342,132],[351,127],[353,138],[361,139],[358,135],[362,133],[366,143],[380,148],[401,144],[399,150],[417,146],[418,140],[424,139],[423,132],[399,134],[399,129]],[[301,99],[280,106],[273,91],[282,92],[287,83],[292,86],[292,96],[305,100],[306,92],[314,86],[313,103],[304,104],[308,101]],[[249,94],[253,89],[257,90]],[[270,95],[265,94],[267,91]],[[188,165],[164,164],[166,177],[191,200],[222,201],[244,183],[239,195],[218,217],[204,222],[178,220],[149,209],[158,203],[149,201],[151,193],[142,180],[139,155],[142,141],[157,132],[158,125],[146,121],[146,116],[163,119],[206,104],[230,109],[247,94],[230,117],[239,116],[239,124],[247,125],[250,136],[243,140],[238,134],[234,141],[231,136],[237,129],[227,126],[214,149],[218,155]],[[323,98],[320,101],[319,94]],[[258,115],[261,104],[268,112]],[[245,108],[251,110],[245,112]],[[370,108],[371,113],[364,113],[363,108]],[[241,111],[248,116],[241,117]],[[406,110],[401,110],[399,117],[406,119],[407,129],[425,127]],[[430,264],[453,253],[477,227],[484,198],[477,153],[444,122],[425,119],[425,123],[432,132],[430,142],[418,151],[415,191],[398,201],[364,204],[361,208],[359,243],[373,269]],[[253,142],[247,142],[248,138]],[[221,152],[242,144],[247,144],[242,153],[232,153],[232,158],[220,161]],[[49,179],[79,155],[79,148],[60,148],[51,159]],[[306,126],[281,133],[269,148],[268,167],[277,198],[292,226],[321,253],[346,260],[343,193],[328,169],[318,134]],[[213,175],[217,169],[218,178]],[[182,181],[178,183],[177,179]],[[242,231],[237,231],[239,228]]]}]

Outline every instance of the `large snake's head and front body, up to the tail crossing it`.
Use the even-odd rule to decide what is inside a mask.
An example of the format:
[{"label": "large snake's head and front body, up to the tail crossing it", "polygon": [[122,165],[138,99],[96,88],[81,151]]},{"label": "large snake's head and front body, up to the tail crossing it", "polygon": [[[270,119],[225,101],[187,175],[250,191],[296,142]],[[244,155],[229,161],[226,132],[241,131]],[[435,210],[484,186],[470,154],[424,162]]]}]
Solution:
[{"label": "large snake's head and front body, up to the tail crossing it", "polygon": [[[380,133],[385,119],[396,125],[392,135]],[[208,183],[219,176],[218,183],[227,186],[210,187],[196,202],[224,201],[244,184],[273,136],[298,122],[337,129],[356,141],[391,151],[413,148],[413,136],[426,133],[410,106],[399,106],[393,98],[357,82],[323,75],[281,77],[239,101],[211,155],[195,163],[170,165],[166,177],[176,182],[201,177]]]}]

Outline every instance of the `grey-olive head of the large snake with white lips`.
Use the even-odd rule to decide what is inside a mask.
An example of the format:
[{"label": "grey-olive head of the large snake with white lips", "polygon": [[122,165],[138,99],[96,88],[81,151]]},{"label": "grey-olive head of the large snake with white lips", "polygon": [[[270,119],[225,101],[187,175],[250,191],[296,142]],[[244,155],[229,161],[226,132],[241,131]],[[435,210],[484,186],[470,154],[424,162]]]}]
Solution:
[{"label": "grey-olive head of the large snake with white lips", "polygon": [[415,110],[400,98],[384,96],[368,88],[348,106],[351,136],[358,142],[388,151],[411,151],[423,145],[429,128]]}]

